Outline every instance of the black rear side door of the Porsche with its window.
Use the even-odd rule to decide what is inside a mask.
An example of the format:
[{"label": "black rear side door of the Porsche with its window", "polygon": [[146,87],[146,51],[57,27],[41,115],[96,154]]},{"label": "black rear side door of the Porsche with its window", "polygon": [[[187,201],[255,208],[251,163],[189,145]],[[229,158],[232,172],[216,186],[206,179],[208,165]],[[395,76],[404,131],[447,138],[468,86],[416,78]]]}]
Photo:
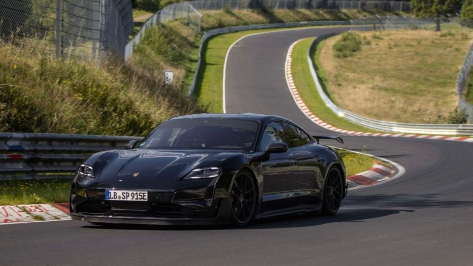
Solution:
[{"label": "black rear side door of the Porsche with its window", "polygon": [[291,142],[291,149],[298,165],[297,196],[298,204],[320,205],[321,189],[323,188],[322,162],[318,160],[320,147],[301,128],[290,125],[297,138]]}]

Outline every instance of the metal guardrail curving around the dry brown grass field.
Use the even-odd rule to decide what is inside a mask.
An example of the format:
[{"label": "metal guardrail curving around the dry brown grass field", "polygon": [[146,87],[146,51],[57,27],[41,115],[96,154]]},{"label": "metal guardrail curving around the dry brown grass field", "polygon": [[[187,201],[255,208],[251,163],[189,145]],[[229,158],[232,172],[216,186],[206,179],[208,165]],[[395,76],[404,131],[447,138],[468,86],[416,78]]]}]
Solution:
[{"label": "metal guardrail curving around the dry brown grass field", "polygon": [[366,118],[350,111],[344,110],[338,107],[330,98],[325,94],[322,85],[317,77],[317,73],[314,69],[314,62],[310,57],[310,52],[315,47],[315,45],[328,37],[334,36],[336,34],[325,34],[318,36],[310,45],[307,51],[307,63],[310,67],[310,72],[312,78],[314,79],[317,91],[324,101],[324,103],[334,111],[338,116],[345,118],[348,121],[351,121],[355,124],[370,128],[373,130],[386,131],[386,132],[396,132],[396,133],[413,133],[413,134],[442,134],[442,135],[473,135],[473,125],[472,124],[410,124],[410,123],[395,123],[387,121],[379,121],[370,118]]}]

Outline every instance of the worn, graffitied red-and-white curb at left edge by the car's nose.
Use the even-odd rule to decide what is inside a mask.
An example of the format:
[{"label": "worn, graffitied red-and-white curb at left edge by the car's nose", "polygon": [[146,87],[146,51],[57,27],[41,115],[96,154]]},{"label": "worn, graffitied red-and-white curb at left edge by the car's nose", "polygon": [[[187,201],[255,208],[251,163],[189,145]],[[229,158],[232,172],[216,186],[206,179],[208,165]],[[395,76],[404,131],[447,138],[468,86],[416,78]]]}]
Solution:
[{"label": "worn, graffitied red-and-white curb at left edge by the car's nose", "polygon": [[67,203],[0,206],[0,225],[70,220],[64,204]]}]

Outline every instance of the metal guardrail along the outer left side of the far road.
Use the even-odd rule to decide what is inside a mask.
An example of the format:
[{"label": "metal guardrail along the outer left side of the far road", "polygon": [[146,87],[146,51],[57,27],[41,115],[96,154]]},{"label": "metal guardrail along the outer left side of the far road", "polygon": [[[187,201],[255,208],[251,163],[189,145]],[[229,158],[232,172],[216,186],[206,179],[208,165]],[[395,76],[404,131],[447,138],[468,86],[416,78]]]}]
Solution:
[{"label": "metal guardrail along the outer left side of the far road", "polygon": [[194,79],[191,83],[191,88],[187,96],[191,96],[194,93],[196,87],[197,77],[199,75],[199,70],[202,64],[202,49],[204,43],[208,38],[215,35],[224,34],[224,33],[235,33],[241,31],[249,30],[262,30],[262,29],[276,29],[276,28],[291,28],[291,27],[304,27],[304,26],[325,26],[325,25],[351,25],[349,21],[305,21],[305,22],[292,22],[292,23],[276,23],[276,24],[262,24],[262,25],[252,25],[252,26],[238,26],[238,27],[229,27],[210,30],[205,33],[201,40],[201,46],[199,47],[199,60],[197,61],[196,71],[194,73]]}]

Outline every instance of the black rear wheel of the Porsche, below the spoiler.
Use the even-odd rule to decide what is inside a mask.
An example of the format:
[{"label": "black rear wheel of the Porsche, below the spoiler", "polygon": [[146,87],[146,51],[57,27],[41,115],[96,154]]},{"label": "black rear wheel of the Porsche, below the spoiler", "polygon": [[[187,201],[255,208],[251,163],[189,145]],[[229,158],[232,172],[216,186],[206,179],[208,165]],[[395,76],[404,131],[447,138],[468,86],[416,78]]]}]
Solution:
[{"label": "black rear wheel of the Porsche, below the spoiler", "polygon": [[324,187],[322,214],[334,215],[338,212],[343,199],[343,182],[340,170],[332,167],[327,174]]}]

